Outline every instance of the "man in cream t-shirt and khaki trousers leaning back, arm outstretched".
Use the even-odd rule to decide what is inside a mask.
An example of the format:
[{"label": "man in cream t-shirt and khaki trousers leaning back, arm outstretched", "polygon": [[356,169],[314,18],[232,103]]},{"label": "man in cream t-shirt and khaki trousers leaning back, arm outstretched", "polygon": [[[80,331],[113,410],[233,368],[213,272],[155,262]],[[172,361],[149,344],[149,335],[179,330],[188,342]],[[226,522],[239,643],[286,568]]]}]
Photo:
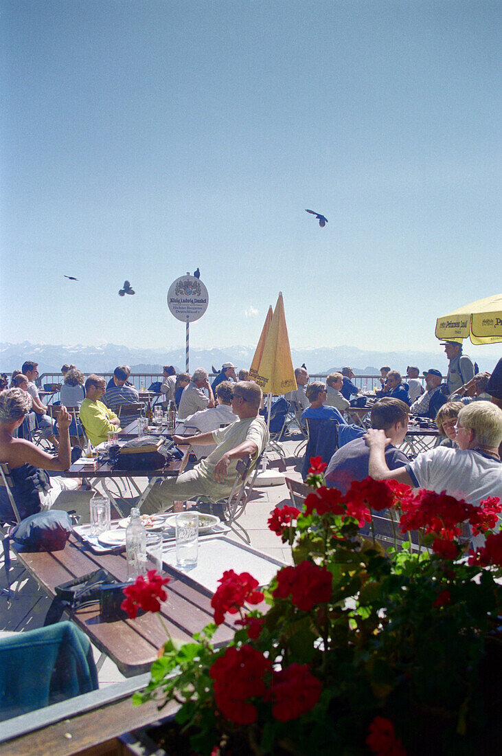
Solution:
[{"label": "man in cream t-shirt and khaki trousers leaning back, arm outstretched", "polygon": [[151,514],[171,507],[174,501],[196,496],[222,499],[232,491],[237,462],[251,456],[254,463],[269,442],[269,432],[258,415],[262,392],[251,381],[239,381],[233,388],[232,408],[239,420],[227,428],[183,438],[174,435],[175,444],[192,446],[216,443],[217,447],[192,470],[182,472],[176,480],[157,482],[146,497],[141,512]]}]

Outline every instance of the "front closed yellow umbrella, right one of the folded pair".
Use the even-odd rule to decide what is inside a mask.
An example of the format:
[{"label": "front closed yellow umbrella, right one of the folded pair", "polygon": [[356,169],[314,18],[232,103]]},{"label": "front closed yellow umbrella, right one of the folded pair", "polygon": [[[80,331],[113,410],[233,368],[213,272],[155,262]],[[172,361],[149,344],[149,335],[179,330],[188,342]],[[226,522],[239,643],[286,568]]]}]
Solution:
[{"label": "front closed yellow umbrella, right one of the folded pair", "polygon": [[254,380],[266,394],[285,394],[297,389],[281,292],[279,292],[272,322],[266,334],[260,366]]}]

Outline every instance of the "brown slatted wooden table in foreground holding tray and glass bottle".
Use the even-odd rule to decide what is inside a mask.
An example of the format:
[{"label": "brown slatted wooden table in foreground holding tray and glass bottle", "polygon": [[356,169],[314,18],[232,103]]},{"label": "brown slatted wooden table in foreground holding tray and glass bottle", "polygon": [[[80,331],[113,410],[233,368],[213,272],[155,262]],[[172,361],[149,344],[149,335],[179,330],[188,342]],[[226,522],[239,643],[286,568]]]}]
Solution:
[{"label": "brown slatted wooden table in foreground holding tray and glass bottle", "polygon": [[[17,552],[17,559],[50,597],[56,595],[54,589],[57,585],[100,567],[108,570],[119,582],[127,578],[125,553],[94,554],[75,535],[70,536],[62,551],[20,551]],[[202,586],[197,588],[189,584],[183,572],[169,567],[165,573],[171,577],[171,582],[168,584],[168,601],[161,610],[162,619],[171,638],[186,642],[193,633],[201,631],[202,627],[213,621],[212,594]],[[150,612],[135,620],[101,622],[97,603],[68,611],[69,618],[88,635],[94,646],[115,662],[125,677],[149,671],[157,658],[157,650],[167,640],[159,617]],[[226,643],[232,636],[231,625],[223,624],[217,630],[214,641]]]}]

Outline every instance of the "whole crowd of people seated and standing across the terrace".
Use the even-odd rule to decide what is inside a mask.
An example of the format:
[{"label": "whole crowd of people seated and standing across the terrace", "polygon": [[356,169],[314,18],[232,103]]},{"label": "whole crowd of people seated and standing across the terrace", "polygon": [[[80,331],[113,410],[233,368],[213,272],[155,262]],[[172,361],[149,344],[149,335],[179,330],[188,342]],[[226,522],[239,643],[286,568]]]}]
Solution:
[{"label": "whole crowd of people seated and standing across the terrace", "polygon": [[[367,432],[346,420],[351,399],[364,398],[362,389],[353,383],[351,367],[329,373],[326,383],[310,382],[305,365],[294,371],[297,389],[285,398],[297,407],[299,422],[334,420],[337,424],[337,449],[326,470],[328,486],[345,492],[353,480],[369,474],[445,490],[470,503],[488,495],[502,497],[502,360],[490,376],[477,372],[460,343],[444,342],[444,346],[448,372],[443,376],[437,367],[425,370],[425,386],[416,366],[408,366],[405,379],[390,365],[380,368],[380,388],[372,397]],[[232,362],[223,363],[211,384],[203,367],[191,375],[177,373],[172,365],[163,367],[159,385],[163,407],[171,402],[177,407],[174,441],[189,443],[197,464],[176,481],[156,485],[143,504],[145,513],[194,494],[224,496],[235,477],[236,461],[248,454],[256,460],[266,448],[269,435],[263,394],[248,381],[247,370],[236,371]],[[76,408],[91,444],[98,445],[106,441],[109,431],[128,422],[122,407],[140,401],[127,365],[116,367],[108,384],[94,373],[85,379],[72,364],[64,364],[61,375],[57,421],[39,395],[35,361],[25,361],[21,370],[12,373],[10,387],[8,376],[0,375],[0,461],[10,466],[20,500],[35,500],[40,506],[50,506],[69,487],[64,479],[49,479],[45,472],[62,471],[70,463],[72,416],[66,407]],[[412,418],[434,420],[442,442],[408,460],[399,446]],[[32,429],[54,444],[55,456],[32,443]],[[26,511],[26,507],[20,509]]]}]

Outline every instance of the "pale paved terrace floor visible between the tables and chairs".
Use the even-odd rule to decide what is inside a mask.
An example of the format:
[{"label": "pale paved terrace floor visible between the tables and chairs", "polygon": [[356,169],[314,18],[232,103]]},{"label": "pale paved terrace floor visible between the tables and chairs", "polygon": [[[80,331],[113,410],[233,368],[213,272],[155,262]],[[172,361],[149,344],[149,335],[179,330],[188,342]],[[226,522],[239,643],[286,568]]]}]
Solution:
[{"label": "pale paved terrace floor visible between the tables and chairs", "polygon": [[[271,453],[269,457],[268,469],[276,469],[285,472],[289,477],[301,480],[300,468],[302,460],[294,457],[294,450],[301,441],[299,434],[288,435],[282,448],[285,452],[285,461],[279,460],[278,455]],[[137,479],[141,490],[146,486],[146,479]],[[58,499],[57,507],[62,509],[75,509],[79,514],[82,513],[82,521],[88,522],[89,518],[89,500],[91,491],[63,492]],[[288,489],[285,484],[275,486],[257,486],[252,495],[252,500],[244,516],[239,520],[248,531],[251,538],[251,546],[257,550],[263,551],[269,556],[284,562],[291,562],[291,550],[289,547],[282,546],[279,537],[269,531],[266,521],[270,512],[283,503],[289,502]],[[85,518],[85,519],[84,519]],[[239,538],[233,533],[230,537],[239,541]],[[45,615],[51,600],[45,596],[45,593],[38,587],[33,578],[22,575],[17,584],[16,577],[20,573],[13,560],[11,567],[11,582],[13,589],[17,587],[16,600],[8,601],[7,596],[0,595],[0,637],[3,634],[11,632],[23,632],[33,630],[35,627],[42,627]],[[0,586],[6,587],[4,555],[0,556]],[[94,649],[94,658],[97,661],[99,652]],[[99,681],[100,687],[119,682],[125,679],[115,667],[110,659],[106,659],[103,667],[100,669]]]}]

